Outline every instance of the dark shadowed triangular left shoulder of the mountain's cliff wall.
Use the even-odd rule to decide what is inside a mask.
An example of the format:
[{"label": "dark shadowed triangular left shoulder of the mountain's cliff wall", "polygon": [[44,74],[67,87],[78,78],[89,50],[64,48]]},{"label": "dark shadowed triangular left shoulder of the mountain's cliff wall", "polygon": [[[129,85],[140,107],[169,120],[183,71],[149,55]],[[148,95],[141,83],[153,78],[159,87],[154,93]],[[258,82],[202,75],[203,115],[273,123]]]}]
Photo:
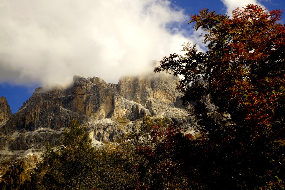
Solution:
[{"label": "dark shadowed triangular left shoulder of the mountain's cliff wall", "polygon": [[0,129],[2,133],[9,134],[13,130],[23,129],[34,131],[41,127],[56,129],[66,127],[72,119],[77,119],[82,124],[91,120],[87,115],[65,109],[63,106],[44,99],[41,94],[38,94],[39,91],[40,88],[14,114],[12,119]]}]

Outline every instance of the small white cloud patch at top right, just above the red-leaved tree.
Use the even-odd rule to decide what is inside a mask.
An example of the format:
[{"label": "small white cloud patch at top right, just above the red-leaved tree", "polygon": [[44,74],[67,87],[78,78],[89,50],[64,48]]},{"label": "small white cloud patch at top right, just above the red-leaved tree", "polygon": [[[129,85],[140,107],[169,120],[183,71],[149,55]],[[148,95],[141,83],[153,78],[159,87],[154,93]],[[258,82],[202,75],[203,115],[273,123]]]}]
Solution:
[{"label": "small white cloud patch at top right, just above the red-leaved tree", "polygon": [[[248,4],[262,5],[258,0],[221,0],[223,4],[227,7],[228,15],[232,15],[232,11],[237,7],[246,7]],[[264,7],[264,6],[263,6]]]}]

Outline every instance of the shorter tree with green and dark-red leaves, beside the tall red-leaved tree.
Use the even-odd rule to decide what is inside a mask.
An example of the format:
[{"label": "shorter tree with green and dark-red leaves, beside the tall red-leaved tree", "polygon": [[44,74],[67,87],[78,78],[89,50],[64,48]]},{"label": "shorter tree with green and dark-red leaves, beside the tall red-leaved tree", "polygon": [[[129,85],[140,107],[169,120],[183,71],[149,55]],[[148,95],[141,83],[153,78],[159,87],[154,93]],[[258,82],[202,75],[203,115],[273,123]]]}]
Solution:
[{"label": "shorter tree with green and dark-red leaves, beside the tall red-leaved tree", "polygon": [[[189,189],[180,169],[181,155],[190,147],[181,143],[192,137],[184,136],[169,119],[144,117],[140,130],[127,135],[118,147],[125,167],[137,175],[136,189]],[[178,139],[180,144],[176,143]]]}]

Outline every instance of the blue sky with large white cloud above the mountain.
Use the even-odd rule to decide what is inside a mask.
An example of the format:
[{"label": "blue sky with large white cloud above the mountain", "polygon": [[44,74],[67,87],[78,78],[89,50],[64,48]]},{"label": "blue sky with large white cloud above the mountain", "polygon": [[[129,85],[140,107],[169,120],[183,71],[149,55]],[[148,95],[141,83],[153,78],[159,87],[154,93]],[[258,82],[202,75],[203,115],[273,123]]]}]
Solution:
[{"label": "blue sky with large white cloud above the mountain", "polygon": [[190,15],[247,4],[285,10],[284,0],[0,0],[0,96],[15,113],[36,87],[68,85],[74,75],[118,83],[151,72],[184,42],[205,48]]}]

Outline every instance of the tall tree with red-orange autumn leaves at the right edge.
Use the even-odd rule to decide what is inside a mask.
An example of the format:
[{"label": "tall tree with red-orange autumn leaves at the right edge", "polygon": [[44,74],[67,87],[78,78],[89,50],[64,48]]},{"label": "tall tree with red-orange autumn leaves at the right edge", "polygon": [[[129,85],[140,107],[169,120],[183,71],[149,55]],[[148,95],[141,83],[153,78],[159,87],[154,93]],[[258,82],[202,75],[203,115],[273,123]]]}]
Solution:
[{"label": "tall tree with red-orange autumn leaves at the right edge", "polygon": [[[155,72],[182,75],[184,103],[200,125],[189,181],[205,189],[284,189],[285,29],[281,10],[250,4],[232,18],[202,9],[191,15],[207,51],[183,45]],[[204,83],[200,83],[203,79]],[[210,95],[216,109],[202,97]],[[214,113],[214,114],[211,114]]]}]

